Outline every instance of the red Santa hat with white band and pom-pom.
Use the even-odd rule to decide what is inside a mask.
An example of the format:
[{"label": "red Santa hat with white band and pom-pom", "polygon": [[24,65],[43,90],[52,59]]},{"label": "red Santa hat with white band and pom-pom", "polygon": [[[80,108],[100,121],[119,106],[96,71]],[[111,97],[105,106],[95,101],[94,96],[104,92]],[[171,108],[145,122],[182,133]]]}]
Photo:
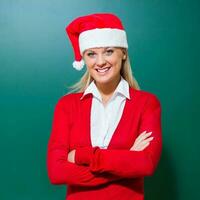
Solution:
[{"label": "red Santa hat with white band and pom-pom", "polygon": [[128,48],[126,32],[121,20],[111,13],[95,13],[73,20],[66,32],[75,55],[73,67],[81,70],[84,66],[82,54],[95,47]]}]

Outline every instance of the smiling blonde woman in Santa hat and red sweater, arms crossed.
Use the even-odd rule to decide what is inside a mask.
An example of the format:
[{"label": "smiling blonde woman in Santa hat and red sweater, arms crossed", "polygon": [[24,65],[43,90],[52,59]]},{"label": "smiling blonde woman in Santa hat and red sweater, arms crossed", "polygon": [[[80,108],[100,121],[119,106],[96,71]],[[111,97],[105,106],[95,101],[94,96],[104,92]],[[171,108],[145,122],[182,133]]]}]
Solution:
[{"label": "smiling blonde woman in Santa hat and red sweater, arms crossed", "polygon": [[132,76],[126,33],[110,13],[78,17],[66,28],[77,70],[86,73],[56,104],[48,175],[68,200],[142,200],[143,180],[161,155],[161,106]]}]

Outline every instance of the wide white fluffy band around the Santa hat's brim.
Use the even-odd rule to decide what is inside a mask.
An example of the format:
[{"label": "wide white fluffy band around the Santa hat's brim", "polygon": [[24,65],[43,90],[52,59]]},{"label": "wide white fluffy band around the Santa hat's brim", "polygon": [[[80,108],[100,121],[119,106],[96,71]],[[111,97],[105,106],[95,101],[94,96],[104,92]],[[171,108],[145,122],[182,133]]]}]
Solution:
[{"label": "wide white fluffy band around the Santa hat's brim", "polygon": [[114,28],[96,28],[79,35],[80,53],[94,47],[124,47],[128,48],[126,32]]}]

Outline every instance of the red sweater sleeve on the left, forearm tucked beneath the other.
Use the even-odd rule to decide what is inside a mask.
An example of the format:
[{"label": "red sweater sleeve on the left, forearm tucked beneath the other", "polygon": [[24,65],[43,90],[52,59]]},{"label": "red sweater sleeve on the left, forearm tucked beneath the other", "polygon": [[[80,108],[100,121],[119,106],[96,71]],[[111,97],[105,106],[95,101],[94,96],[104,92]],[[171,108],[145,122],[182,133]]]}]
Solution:
[{"label": "red sweater sleeve on the left, forearm tucked beneath the other", "polygon": [[[66,106],[69,107],[69,106]],[[116,175],[93,174],[88,166],[79,166],[67,160],[69,152],[69,109],[63,101],[56,104],[51,136],[47,148],[47,172],[52,184],[97,186],[121,179]]]}]

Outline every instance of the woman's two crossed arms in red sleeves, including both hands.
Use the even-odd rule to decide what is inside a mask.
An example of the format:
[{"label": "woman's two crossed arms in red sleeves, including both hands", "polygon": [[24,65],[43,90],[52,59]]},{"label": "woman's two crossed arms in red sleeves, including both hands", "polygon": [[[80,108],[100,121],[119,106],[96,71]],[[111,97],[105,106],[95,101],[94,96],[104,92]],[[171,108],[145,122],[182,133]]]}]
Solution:
[{"label": "woman's two crossed arms in red sleeves, including both hands", "polygon": [[69,151],[68,113],[62,104],[59,101],[56,105],[48,144],[47,167],[52,183],[96,186],[154,172],[161,154],[161,107],[157,98],[146,104],[141,134],[130,150],[86,147]]}]

